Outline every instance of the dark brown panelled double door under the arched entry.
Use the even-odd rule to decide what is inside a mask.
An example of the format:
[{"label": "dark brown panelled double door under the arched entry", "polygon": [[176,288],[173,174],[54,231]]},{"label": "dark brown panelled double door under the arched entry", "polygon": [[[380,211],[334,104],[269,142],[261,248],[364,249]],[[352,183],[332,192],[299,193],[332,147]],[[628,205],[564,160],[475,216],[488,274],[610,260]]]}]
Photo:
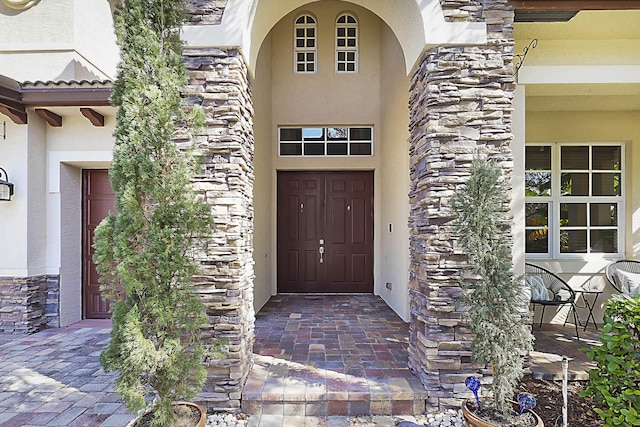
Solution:
[{"label": "dark brown panelled double door under the arched entry", "polygon": [[373,292],[373,173],[278,173],[278,292]]}]

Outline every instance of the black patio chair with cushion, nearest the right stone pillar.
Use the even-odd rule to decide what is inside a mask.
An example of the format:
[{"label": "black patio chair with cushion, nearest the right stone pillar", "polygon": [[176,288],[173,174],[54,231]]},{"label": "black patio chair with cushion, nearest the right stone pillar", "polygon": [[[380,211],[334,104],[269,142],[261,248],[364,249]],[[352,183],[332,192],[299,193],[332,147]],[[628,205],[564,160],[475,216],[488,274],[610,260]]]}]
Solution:
[{"label": "black patio chair with cushion, nearest the right stone pillar", "polygon": [[[546,268],[535,264],[525,264],[525,283],[531,288],[531,304],[533,304],[534,316],[535,306],[542,306],[540,315],[540,327],[544,319],[544,310],[547,306],[559,307],[570,306],[573,313],[573,323],[576,327],[576,337],[580,339],[578,332],[578,317],[576,315],[575,301],[576,293],[571,286],[556,274]],[[567,314],[568,316],[568,314]]]}]

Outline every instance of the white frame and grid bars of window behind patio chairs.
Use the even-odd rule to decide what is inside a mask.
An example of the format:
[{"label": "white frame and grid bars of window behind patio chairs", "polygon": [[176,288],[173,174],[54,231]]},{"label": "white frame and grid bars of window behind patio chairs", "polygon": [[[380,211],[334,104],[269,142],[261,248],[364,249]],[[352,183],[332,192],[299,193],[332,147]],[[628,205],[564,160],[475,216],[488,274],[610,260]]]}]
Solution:
[{"label": "white frame and grid bars of window behind patio chairs", "polygon": [[[612,258],[617,259],[622,257],[624,254],[625,247],[625,205],[626,205],[626,168],[625,168],[625,144],[620,142],[572,142],[572,143],[527,143],[527,147],[531,146],[550,146],[551,147],[551,195],[550,196],[535,196],[535,197],[526,197],[525,196],[525,206],[527,203],[548,203],[549,211],[548,211],[548,225],[547,225],[547,235],[548,235],[548,251],[546,253],[531,253],[526,252],[526,258],[550,258],[550,259],[584,259],[593,255],[601,256],[604,258]],[[561,149],[566,146],[588,146],[589,147],[589,169],[586,170],[589,174],[589,195],[586,196],[563,196],[561,193]],[[592,196],[592,180],[591,175],[593,173],[598,172],[613,172],[614,170],[598,170],[593,169],[592,157],[593,157],[593,147],[594,146],[616,146],[620,147],[620,169],[616,172],[620,173],[620,195],[619,196]],[[527,170],[525,169],[525,173]],[[583,172],[580,170],[580,172]],[[618,214],[618,224],[617,227],[611,227],[612,229],[617,229],[618,231],[618,252],[591,252],[590,250],[590,230],[592,230],[592,225],[589,224],[590,210],[589,206],[591,203],[616,203],[617,204],[617,214]],[[564,230],[570,230],[571,227],[561,227],[560,225],[560,207],[563,203],[578,203],[578,204],[586,204],[587,205],[587,224],[586,226],[575,227],[574,229],[586,229],[587,232],[587,247],[585,253],[563,253],[560,248],[560,236],[561,236],[561,228]],[[525,208],[526,209],[526,208]],[[526,210],[525,210],[526,215]],[[525,227],[526,224],[525,224]],[[604,228],[597,228],[604,229]],[[525,228],[525,242],[528,230],[532,230],[532,228]],[[526,248],[525,248],[526,251]]]}]

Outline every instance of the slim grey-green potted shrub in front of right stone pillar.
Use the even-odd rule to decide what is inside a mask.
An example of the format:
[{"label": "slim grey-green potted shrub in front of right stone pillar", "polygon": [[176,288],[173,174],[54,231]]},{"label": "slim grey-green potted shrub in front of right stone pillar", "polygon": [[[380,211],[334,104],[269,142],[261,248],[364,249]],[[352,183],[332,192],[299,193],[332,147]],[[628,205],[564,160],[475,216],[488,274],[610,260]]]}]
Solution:
[{"label": "slim grey-green potted shrub in front of right stone pillar", "polygon": [[[491,398],[482,399],[482,404],[480,399],[464,402],[463,413],[472,426],[511,425],[508,420],[514,415],[514,388],[524,374],[523,354],[532,350],[528,296],[523,279],[512,269],[508,194],[501,169],[486,156],[477,155],[469,180],[451,199],[454,231],[469,265],[462,284],[462,303],[468,307],[467,320],[475,335],[472,356],[492,371]],[[473,377],[468,382],[477,393],[479,381]],[[474,417],[497,419],[474,424],[469,417],[474,413]]]}]

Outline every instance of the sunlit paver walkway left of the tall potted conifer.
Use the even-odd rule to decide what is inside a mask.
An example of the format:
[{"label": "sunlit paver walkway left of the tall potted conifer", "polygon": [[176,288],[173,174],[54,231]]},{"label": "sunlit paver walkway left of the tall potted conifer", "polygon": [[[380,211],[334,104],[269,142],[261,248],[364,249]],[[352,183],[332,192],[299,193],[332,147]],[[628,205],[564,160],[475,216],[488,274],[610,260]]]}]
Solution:
[{"label": "sunlit paver walkway left of the tall potted conifer", "polygon": [[0,335],[0,426],[122,427],[133,418],[98,357],[109,321]]}]

